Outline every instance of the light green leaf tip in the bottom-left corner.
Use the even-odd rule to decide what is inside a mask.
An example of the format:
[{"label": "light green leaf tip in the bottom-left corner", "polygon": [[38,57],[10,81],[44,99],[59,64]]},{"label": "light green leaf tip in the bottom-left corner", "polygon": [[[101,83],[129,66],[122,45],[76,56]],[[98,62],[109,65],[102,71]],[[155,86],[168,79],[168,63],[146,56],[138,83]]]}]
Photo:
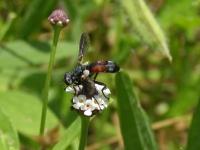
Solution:
[{"label": "light green leaf tip in the bottom-left corner", "polygon": [[19,139],[15,128],[13,128],[8,116],[0,109],[0,149],[19,150]]}]

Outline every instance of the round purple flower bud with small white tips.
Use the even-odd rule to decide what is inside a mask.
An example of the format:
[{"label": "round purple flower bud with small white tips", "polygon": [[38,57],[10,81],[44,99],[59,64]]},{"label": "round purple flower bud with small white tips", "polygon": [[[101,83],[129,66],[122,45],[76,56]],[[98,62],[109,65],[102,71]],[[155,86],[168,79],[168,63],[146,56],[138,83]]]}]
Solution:
[{"label": "round purple flower bud with small white tips", "polygon": [[62,9],[54,10],[48,17],[48,20],[52,25],[59,25],[61,27],[65,27],[70,21],[68,15]]}]

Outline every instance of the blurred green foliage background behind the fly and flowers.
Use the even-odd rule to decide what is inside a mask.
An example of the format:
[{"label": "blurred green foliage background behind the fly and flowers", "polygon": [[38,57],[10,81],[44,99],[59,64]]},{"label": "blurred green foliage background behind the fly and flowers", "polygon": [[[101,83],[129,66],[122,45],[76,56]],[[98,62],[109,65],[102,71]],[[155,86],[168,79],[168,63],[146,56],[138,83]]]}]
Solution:
[{"label": "blurred green foliage background behind the fly and flowers", "polygon": [[[84,60],[114,60],[129,74],[159,149],[185,147],[189,120],[200,95],[200,1],[146,0],[155,17],[149,20],[151,13],[138,8],[135,1],[130,8],[124,4],[130,0],[0,1],[0,108],[19,131],[22,148],[34,149],[30,137],[39,132],[41,91],[52,39],[47,17],[58,7],[67,11],[71,21],[58,44],[49,129],[58,120],[67,127],[76,118],[69,106],[72,95],[64,92],[63,75],[76,64],[80,35],[88,32],[91,47]],[[159,26],[162,30],[154,34]],[[163,55],[166,47],[162,42],[168,46],[172,62]],[[102,74],[98,80],[111,88],[112,104],[93,119],[88,149],[123,149],[114,75]]]}]

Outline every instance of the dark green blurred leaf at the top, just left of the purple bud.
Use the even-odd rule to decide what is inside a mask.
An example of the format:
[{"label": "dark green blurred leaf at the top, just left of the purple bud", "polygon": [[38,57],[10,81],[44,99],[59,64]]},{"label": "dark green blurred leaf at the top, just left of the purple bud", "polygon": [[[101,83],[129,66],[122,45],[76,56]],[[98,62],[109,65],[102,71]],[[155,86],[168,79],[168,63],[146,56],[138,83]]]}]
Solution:
[{"label": "dark green blurred leaf at the top, just left of the purple bud", "polygon": [[32,0],[21,21],[20,37],[27,38],[34,30],[40,27],[43,20],[56,6],[57,0]]}]

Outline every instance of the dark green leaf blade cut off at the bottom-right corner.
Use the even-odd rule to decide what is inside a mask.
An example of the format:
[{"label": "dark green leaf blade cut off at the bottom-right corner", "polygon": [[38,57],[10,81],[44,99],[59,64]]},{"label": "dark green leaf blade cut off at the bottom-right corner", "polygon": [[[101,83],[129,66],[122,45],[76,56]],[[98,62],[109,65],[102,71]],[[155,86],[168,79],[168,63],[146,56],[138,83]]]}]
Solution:
[{"label": "dark green leaf blade cut off at the bottom-right corner", "polygon": [[196,108],[196,111],[194,112],[192,123],[191,123],[190,129],[189,129],[187,150],[200,149],[199,127],[200,127],[200,100],[199,100],[199,104]]}]

